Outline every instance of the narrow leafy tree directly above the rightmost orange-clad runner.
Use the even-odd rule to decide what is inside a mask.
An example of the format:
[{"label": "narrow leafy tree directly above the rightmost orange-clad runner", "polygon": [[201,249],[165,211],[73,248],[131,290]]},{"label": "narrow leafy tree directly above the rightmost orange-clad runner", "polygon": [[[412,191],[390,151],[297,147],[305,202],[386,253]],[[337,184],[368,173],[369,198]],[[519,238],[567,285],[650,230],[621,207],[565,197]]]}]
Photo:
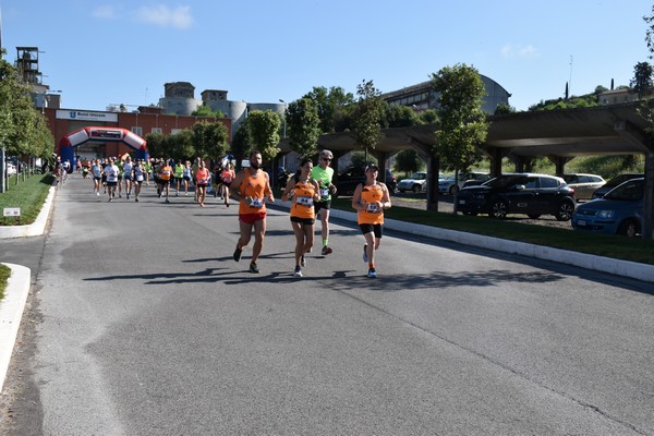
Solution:
[{"label": "narrow leafy tree directly above the rightmost orange-clad runner", "polygon": [[354,142],[367,155],[370,149],[375,149],[382,140],[382,120],[384,105],[379,96],[382,93],[375,87],[373,81],[363,81],[356,86],[356,109],[354,116]]}]

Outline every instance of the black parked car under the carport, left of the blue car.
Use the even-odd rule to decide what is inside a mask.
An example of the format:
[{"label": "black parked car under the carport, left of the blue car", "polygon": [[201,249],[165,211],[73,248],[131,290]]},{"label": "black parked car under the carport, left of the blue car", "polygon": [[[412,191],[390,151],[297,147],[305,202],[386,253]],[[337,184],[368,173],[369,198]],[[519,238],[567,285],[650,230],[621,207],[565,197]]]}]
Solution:
[{"label": "black parked car under the carport, left of the blue car", "polygon": [[459,192],[457,208],[465,215],[488,214],[505,218],[525,214],[532,219],[554,215],[559,221],[572,216],[574,190],[559,177],[535,173],[506,174]]}]

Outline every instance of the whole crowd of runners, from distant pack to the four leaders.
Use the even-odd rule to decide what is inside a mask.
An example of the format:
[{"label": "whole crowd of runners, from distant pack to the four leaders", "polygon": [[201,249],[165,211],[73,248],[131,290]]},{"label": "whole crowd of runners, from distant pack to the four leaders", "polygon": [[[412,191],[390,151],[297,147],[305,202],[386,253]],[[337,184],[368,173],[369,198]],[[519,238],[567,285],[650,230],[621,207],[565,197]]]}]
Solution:
[{"label": "whole crowd of runners, from distant pack to the four leaders", "polygon": [[[331,195],[336,193],[332,183],[334,169],[330,167],[334,155],[324,149],[318,156],[318,165],[304,158],[300,168],[283,186],[281,199],[290,203],[290,221],[295,237],[295,265],[293,275],[303,277],[306,266],[306,254],[314,246],[316,219],[320,219],[322,249],[326,256],[334,252],[329,245],[329,210]],[[85,171],[84,168],[88,167]],[[106,195],[108,202],[117,197],[135,202],[140,201],[142,186],[156,185],[157,195],[164,203],[170,203],[172,196],[193,195],[201,207],[205,207],[207,195],[220,198],[227,207],[230,198],[239,204],[240,238],[234,249],[233,258],[240,262],[243,250],[249,245],[252,235],[254,244],[249,270],[259,272],[258,257],[264,247],[266,234],[266,203],[274,203],[275,196],[270,178],[262,169],[262,154],[254,150],[250,155],[250,167],[234,172],[229,160],[207,168],[205,161],[197,158],[193,164],[189,160],[171,159],[135,159],[126,155],[123,158],[95,159],[83,165],[83,174],[94,182],[94,193]],[[363,262],[367,264],[367,277],[377,277],[375,252],[379,249],[383,237],[384,210],[391,206],[390,194],[383,182],[377,181],[378,167],[370,164],[365,168],[366,180],[360,183],[352,196],[352,208],[356,210],[356,221],[365,239]],[[85,175],[86,177],[86,175]],[[213,192],[211,192],[213,190]],[[101,193],[100,193],[101,192]]]}]

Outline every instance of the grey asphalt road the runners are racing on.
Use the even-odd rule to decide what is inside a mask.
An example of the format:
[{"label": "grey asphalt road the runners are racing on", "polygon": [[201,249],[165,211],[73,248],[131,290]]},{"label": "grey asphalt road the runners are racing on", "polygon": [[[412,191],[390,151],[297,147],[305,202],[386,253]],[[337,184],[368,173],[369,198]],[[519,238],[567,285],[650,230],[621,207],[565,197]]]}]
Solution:
[{"label": "grey asphalt road the runners are racing on", "polygon": [[298,279],[283,209],[252,275],[235,206],[90,183],[0,242],[37,266],[7,434],[654,435],[642,282],[390,232],[368,279],[350,222]]}]

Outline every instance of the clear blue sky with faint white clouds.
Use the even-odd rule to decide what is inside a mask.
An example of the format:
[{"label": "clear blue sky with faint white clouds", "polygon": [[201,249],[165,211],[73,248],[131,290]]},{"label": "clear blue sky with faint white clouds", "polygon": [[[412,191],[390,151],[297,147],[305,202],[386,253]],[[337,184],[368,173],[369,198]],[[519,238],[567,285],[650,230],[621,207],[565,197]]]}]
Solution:
[{"label": "clear blue sky with faint white clouds", "polygon": [[156,105],[190,82],[286,102],[316,86],[382,93],[474,66],[517,110],[629,85],[649,61],[649,0],[0,0],[4,59],[38,47],[66,109]]}]

